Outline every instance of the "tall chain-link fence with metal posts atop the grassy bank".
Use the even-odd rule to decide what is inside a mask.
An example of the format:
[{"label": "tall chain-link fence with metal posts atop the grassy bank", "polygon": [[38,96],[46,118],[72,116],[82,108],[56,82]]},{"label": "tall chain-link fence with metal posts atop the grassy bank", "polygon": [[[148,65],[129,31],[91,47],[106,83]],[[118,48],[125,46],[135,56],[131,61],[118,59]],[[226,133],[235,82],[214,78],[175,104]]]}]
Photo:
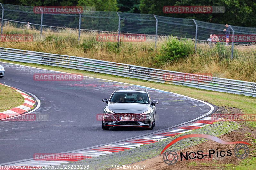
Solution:
[{"label": "tall chain-link fence with metal posts atop the grassy bank", "polygon": [[[230,32],[224,24],[213,24],[194,19],[163,17],[149,14],[133,14],[121,12],[100,12],[83,11],[78,14],[45,14],[33,12],[33,7],[1,4],[1,35],[4,22],[15,24],[17,27],[24,26],[29,22],[35,29],[42,27],[72,28],[78,29],[78,41],[80,30],[88,31],[108,31],[120,33],[146,34],[155,37],[155,47],[157,37],[176,36],[178,38],[190,38],[195,40],[195,50],[197,41],[206,41],[209,35],[216,34],[215,41],[228,43],[231,45],[231,59],[233,57],[234,43],[237,45],[253,45],[256,42],[256,28],[230,26]],[[227,23],[228,24],[228,23]],[[226,37],[226,34],[229,37]],[[212,42],[210,42],[212,43]],[[231,43],[231,44],[230,44]]]}]

